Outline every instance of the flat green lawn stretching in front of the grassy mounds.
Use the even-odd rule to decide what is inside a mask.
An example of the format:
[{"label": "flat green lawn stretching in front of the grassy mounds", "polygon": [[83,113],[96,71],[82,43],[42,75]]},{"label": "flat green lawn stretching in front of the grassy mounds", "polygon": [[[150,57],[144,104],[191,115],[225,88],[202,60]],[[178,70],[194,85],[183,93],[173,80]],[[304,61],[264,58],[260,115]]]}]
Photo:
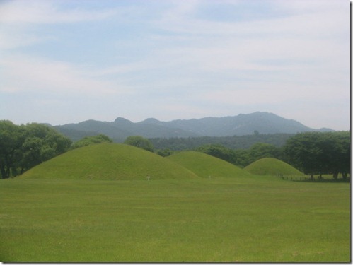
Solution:
[{"label": "flat green lawn stretching in front of the grassy mounds", "polygon": [[5,179],[0,261],[350,261],[350,184]]}]

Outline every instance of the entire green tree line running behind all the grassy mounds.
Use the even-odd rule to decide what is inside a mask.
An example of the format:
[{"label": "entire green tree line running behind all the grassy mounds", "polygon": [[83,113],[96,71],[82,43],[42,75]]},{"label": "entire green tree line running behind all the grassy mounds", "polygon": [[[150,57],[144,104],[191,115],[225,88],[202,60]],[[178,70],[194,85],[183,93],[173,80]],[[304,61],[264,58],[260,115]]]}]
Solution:
[{"label": "entire green tree line running behind all the grassy mounds", "polygon": [[[254,139],[274,139],[279,136],[283,142],[277,146],[263,143]],[[234,138],[235,137],[235,138]],[[245,167],[260,158],[278,158],[296,167],[307,175],[327,175],[337,179],[339,174],[347,178],[351,167],[350,132],[306,132],[294,135],[274,134],[252,136],[219,137],[219,141],[226,139],[228,143],[238,139],[238,146],[248,148],[229,148],[219,141],[218,137],[201,137],[195,139],[145,139],[142,136],[128,136],[124,143],[144,148],[147,151],[168,156],[177,151],[199,151],[228,161],[239,167]],[[244,139],[252,139],[245,141]],[[285,141],[283,140],[285,139]],[[207,141],[210,140],[210,141]],[[164,143],[176,143],[174,148],[161,148]],[[227,142],[226,141],[226,142]],[[73,148],[87,146],[93,143],[112,142],[108,136],[98,134],[86,136],[81,140],[72,141],[58,131],[45,124],[15,125],[11,121],[0,121],[0,175],[1,178],[21,175],[31,167],[38,165]],[[188,143],[192,142],[190,145]],[[156,144],[157,143],[157,144]],[[183,143],[183,144],[181,144]],[[156,148],[155,144],[159,147]],[[164,145],[168,146],[168,145]],[[170,145],[169,145],[170,146]],[[177,147],[178,146],[178,147]]]}]

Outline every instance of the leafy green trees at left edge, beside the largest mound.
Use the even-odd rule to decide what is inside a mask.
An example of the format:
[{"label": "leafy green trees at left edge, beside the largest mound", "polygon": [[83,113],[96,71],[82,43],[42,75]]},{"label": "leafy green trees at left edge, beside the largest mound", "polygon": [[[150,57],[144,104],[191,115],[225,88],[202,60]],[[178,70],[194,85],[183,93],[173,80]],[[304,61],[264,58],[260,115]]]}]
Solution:
[{"label": "leafy green trees at left edge, beside the largest mound", "polygon": [[43,124],[15,125],[0,121],[1,178],[25,170],[69,150],[71,140]]}]

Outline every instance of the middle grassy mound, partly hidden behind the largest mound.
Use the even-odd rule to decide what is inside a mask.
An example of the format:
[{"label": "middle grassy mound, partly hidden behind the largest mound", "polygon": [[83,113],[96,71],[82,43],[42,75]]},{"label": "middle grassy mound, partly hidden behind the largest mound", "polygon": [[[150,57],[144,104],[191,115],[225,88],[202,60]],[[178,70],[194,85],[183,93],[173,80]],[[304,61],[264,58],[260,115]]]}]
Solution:
[{"label": "middle grassy mound, partly hidden behind the largest mound", "polygon": [[245,177],[249,175],[245,170],[225,160],[195,151],[175,153],[168,156],[168,159],[183,165],[199,177]]}]

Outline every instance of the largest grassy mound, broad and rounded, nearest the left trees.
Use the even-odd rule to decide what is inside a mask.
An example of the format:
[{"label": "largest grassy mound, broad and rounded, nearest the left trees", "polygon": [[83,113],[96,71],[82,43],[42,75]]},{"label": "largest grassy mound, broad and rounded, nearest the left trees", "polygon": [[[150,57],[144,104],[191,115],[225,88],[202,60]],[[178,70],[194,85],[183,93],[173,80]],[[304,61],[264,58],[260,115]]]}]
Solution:
[{"label": "largest grassy mound, broad and rounded, nearest the left trees", "polygon": [[141,148],[100,143],[76,148],[25,172],[23,178],[46,179],[190,179],[185,167]]}]

